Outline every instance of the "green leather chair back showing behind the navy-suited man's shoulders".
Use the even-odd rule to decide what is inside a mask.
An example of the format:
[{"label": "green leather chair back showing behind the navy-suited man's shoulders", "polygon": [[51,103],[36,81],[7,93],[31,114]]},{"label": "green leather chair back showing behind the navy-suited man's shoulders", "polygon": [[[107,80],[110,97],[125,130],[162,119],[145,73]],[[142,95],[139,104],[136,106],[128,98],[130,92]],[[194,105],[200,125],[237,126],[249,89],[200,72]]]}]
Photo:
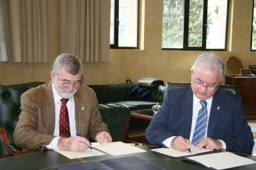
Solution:
[{"label": "green leather chair back showing behind the navy-suited man's shoulders", "polygon": [[[180,88],[180,87],[186,87],[188,85],[191,85],[190,82],[167,82],[166,83],[166,88],[164,90],[164,98],[166,96],[166,91],[169,89],[176,89],[176,88]],[[218,87],[219,89],[228,92],[230,94],[234,94],[236,96],[238,96],[238,87],[234,86],[234,85],[219,85]]]}]

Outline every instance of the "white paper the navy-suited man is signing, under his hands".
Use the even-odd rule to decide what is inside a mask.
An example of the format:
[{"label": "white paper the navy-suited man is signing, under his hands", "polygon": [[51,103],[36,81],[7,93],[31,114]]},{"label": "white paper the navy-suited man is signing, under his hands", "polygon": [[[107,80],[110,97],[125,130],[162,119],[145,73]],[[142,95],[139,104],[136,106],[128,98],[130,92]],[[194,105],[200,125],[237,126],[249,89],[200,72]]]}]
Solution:
[{"label": "white paper the navy-suited man is signing, under his hands", "polygon": [[173,148],[157,148],[157,149],[153,149],[152,151],[159,152],[159,153],[162,153],[163,155],[168,155],[170,157],[184,157],[184,156],[190,156],[190,155],[195,155],[198,153],[212,151],[212,150],[207,150],[205,148],[196,150],[196,146],[193,146],[193,145],[190,145],[189,148],[190,148],[191,153],[188,150],[181,152],[181,151],[177,151]]}]

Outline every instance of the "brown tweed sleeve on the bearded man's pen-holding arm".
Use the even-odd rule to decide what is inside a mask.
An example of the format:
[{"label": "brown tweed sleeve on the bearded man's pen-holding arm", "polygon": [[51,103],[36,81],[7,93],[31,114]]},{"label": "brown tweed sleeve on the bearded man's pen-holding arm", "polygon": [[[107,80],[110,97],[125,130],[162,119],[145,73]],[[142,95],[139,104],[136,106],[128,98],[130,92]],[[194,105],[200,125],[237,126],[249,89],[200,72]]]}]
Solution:
[{"label": "brown tweed sleeve on the bearded man's pen-holding arm", "polygon": [[54,136],[47,134],[44,122],[38,122],[42,121],[42,106],[32,101],[33,99],[26,92],[20,97],[22,111],[13,139],[15,145],[24,150],[43,150],[45,145],[51,143]]}]

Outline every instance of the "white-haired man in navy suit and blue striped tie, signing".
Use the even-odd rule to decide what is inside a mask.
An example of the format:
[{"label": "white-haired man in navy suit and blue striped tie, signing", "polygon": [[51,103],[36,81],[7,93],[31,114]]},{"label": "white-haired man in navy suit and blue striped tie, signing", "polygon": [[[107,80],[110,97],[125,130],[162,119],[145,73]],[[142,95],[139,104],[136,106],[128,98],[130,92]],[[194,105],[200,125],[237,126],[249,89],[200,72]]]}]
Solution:
[{"label": "white-haired man in navy suit and blue striped tie, signing", "polygon": [[188,150],[191,144],[198,150],[252,152],[253,134],[244,118],[241,97],[218,89],[223,73],[220,57],[202,53],[191,69],[191,86],[166,92],[146,129],[147,140],[179,151]]}]

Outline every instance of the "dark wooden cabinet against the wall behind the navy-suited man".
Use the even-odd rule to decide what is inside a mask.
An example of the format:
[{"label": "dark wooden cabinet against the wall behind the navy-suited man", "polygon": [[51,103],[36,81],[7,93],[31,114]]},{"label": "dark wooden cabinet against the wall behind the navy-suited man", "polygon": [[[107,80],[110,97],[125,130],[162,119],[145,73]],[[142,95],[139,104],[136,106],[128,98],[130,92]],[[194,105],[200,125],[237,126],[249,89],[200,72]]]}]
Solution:
[{"label": "dark wooden cabinet against the wall behind the navy-suited man", "polygon": [[247,120],[256,120],[256,77],[225,76],[225,84],[238,87],[244,116]]}]

